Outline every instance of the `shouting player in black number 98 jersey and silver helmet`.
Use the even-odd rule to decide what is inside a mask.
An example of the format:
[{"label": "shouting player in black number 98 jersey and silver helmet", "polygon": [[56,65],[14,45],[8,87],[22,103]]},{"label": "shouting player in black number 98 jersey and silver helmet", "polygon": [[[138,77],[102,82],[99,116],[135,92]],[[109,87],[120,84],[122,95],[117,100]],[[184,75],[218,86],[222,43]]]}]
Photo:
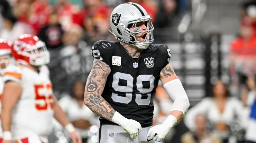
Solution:
[{"label": "shouting player in black number 98 jersey and silver helmet", "polygon": [[[151,20],[139,4],[120,4],[110,17],[111,33],[120,42],[101,40],[92,46],[95,59],[84,104],[101,117],[99,143],[160,142],[190,106],[169,64],[170,49],[150,44],[154,41]],[[174,103],[167,119],[152,127],[159,79]]]}]

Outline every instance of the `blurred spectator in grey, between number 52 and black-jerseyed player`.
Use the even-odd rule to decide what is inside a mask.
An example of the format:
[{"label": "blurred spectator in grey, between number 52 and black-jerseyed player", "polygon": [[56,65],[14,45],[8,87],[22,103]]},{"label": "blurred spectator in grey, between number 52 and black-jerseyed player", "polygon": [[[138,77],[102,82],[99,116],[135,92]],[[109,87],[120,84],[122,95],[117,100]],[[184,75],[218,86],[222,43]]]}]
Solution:
[{"label": "blurred spectator in grey, between number 52 and black-jerseyed player", "polygon": [[78,45],[81,35],[81,27],[73,26],[71,30],[64,32],[63,46],[50,51],[51,62],[48,67],[56,95],[69,93],[71,83],[77,77],[85,82],[89,75],[92,66],[91,47],[88,48],[83,42]]}]

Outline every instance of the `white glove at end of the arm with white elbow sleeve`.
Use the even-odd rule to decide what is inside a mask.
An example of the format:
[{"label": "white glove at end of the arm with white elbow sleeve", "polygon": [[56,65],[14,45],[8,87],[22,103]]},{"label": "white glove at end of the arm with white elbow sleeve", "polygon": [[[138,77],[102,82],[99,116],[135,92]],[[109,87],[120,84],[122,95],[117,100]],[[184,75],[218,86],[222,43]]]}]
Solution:
[{"label": "white glove at end of the arm with white elbow sleeve", "polygon": [[148,139],[161,142],[176,123],[177,119],[173,115],[169,115],[162,124],[155,125],[149,129]]}]

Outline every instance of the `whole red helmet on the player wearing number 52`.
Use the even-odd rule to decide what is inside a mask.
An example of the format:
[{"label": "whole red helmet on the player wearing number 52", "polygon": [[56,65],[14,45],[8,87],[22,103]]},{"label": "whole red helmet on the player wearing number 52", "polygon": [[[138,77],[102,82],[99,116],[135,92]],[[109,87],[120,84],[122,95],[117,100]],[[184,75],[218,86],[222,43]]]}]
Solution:
[{"label": "whole red helmet on the player wearing number 52", "polygon": [[20,35],[20,38],[13,42],[11,52],[18,63],[41,66],[50,62],[50,53],[45,43],[35,35]]}]

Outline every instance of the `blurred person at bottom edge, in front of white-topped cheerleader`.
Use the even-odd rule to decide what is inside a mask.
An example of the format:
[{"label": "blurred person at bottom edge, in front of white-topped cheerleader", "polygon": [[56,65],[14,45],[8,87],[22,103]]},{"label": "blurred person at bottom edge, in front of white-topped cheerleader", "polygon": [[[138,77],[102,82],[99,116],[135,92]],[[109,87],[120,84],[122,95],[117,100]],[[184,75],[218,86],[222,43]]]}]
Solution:
[{"label": "blurred person at bottom edge, in front of white-topped cheerleader", "polygon": [[207,132],[207,120],[203,114],[195,117],[195,131],[188,132],[181,136],[181,143],[221,143],[222,141]]}]

